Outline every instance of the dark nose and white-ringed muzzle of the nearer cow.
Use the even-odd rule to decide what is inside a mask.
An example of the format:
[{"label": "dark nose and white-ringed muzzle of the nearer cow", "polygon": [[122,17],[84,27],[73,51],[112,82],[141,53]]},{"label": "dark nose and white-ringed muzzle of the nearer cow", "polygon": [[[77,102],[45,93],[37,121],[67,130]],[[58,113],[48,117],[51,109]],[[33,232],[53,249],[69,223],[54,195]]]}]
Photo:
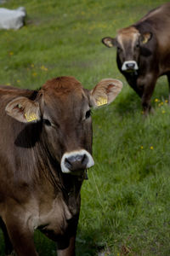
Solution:
[{"label": "dark nose and white-ringed muzzle of the nearer cow", "polygon": [[65,153],[61,159],[61,171],[78,175],[85,169],[94,166],[94,159],[85,149]]}]

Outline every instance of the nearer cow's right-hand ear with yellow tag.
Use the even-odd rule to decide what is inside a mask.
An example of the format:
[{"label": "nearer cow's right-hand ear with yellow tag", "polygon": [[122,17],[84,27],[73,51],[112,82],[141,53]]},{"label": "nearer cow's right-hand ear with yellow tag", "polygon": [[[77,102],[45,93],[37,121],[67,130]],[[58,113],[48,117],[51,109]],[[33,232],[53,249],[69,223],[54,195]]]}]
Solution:
[{"label": "nearer cow's right-hand ear with yellow tag", "polygon": [[91,93],[91,104],[98,108],[113,102],[119,92],[122,90],[122,82],[117,79],[102,79]]}]

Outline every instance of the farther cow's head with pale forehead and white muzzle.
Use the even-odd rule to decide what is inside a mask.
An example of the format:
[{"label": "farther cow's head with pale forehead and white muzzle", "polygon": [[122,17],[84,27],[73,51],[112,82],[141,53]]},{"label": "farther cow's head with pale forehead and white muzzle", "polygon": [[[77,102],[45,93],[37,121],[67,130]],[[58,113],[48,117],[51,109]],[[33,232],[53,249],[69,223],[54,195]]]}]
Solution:
[{"label": "farther cow's head with pale forehead and white muzzle", "polygon": [[144,51],[144,45],[150,38],[152,38],[151,32],[141,34],[134,26],[129,26],[118,31],[116,38],[103,38],[102,43],[107,47],[116,46],[122,72],[133,72],[139,69],[139,55],[149,52]]}]

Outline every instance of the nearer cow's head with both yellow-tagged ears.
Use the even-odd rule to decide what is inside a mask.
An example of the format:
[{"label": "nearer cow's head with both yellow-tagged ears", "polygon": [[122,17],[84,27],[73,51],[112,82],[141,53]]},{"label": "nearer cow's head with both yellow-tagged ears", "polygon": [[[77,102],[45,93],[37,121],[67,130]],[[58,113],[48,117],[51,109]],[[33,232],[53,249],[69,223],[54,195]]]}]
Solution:
[{"label": "nearer cow's head with both yellow-tagged ears", "polygon": [[48,80],[34,101],[20,96],[5,110],[26,125],[41,124],[42,147],[62,172],[79,175],[94,166],[91,108],[110,104],[121,90],[122,82],[116,79],[103,79],[86,90],[77,79],[60,77]]}]

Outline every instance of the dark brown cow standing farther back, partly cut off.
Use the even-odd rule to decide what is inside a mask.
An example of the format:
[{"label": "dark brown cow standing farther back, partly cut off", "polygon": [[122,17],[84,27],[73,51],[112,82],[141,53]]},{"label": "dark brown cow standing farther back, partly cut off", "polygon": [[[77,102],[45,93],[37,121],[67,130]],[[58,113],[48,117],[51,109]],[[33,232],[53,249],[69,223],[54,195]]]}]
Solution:
[{"label": "dark brown cow standing farther back, partly cut off", "polygon": [[119,30],[116,38],[103,38],[102,42],[116,46],[117,66],[148,113],[156,80],[166,74],[170,86],[170,3]]}]

